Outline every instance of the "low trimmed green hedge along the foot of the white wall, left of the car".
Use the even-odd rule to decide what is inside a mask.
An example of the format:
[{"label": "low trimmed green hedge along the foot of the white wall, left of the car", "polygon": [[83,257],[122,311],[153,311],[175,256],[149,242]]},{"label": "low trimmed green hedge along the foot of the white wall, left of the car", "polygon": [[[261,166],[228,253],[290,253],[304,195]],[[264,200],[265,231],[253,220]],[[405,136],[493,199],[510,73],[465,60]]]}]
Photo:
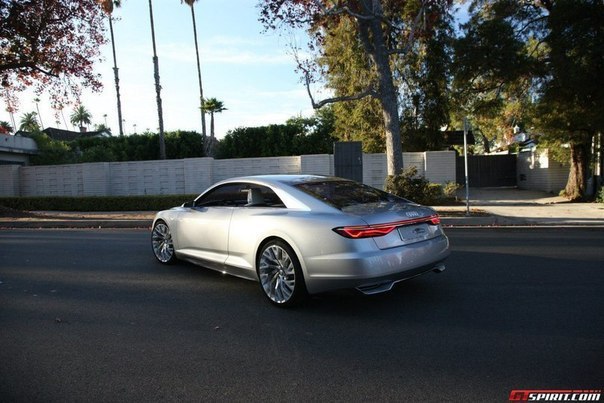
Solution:
[{"label": "low trimmed green hedge along the foot of the white wall, left of the car", "polygon": [[21,211],[159,211],[197,196],[0,197],[0,206]]}]

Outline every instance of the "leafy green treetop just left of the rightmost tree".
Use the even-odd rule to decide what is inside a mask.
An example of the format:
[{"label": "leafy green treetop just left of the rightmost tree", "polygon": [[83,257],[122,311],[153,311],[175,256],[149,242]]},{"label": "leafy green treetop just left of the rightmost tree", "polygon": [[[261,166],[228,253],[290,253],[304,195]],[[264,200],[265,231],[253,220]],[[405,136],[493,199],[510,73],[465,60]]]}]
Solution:
[{"label": "leafy green treetop just left of the rightmost tree", "polygon": [[[522,7],[513,8],[497,3],[472,7],[463,36],[455,43],[457,120],[469,116],[486,144],[511,141],[513,127],[528,118],[529,88],[541,75],[536,59],[527,52],[529,37],[517,34],[511,23],[510,13]],[[537,21],[541,18],[532,7],[526,13]]]}]

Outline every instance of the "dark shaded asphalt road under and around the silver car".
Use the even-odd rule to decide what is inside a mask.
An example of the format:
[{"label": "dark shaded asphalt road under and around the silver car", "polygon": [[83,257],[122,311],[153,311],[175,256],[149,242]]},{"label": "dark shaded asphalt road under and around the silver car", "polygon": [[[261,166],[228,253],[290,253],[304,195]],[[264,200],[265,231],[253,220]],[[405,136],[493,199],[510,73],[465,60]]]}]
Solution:
[{"label": "dark shaded asphalt road under and around the silver car", "polygon": [[604,230],[451,229],[442,274],[296,310],[141,230],[0,231],[0,401],[507,401],[604,387]]}]

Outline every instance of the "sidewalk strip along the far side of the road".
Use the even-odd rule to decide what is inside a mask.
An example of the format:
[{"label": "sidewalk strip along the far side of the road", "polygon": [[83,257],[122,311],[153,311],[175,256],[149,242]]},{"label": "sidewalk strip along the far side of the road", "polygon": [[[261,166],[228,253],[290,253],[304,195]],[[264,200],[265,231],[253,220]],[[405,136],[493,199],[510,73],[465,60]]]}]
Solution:
[{"label": "sidewalk strip along the far side of the road", "polygon": [[[470,189],[470,215],[463,204],[436,206],[445,227],[592,226],[604,228],[604,204],[569,203],[548,193],[516,188]],[[4,216],[3,216],[4,215]],[[150,228],[155,212],[57,212],[1,214],[5,228]]]}]

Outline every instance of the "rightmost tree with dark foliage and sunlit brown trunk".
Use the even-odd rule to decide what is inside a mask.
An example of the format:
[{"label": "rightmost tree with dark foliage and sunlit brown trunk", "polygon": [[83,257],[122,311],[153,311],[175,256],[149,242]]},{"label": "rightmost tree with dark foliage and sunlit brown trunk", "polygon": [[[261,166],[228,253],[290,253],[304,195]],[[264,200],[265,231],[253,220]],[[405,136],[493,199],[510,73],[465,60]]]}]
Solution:
[{"label": "rightmost tree with dark foliage and sunlit brown trunk", "polygon": [[537,122],[546,141],[569,146],[565,194],[581,199],[594,139],[604,132],[604,3],[558,0],[548,11],[549,77],[542,86]]}]

